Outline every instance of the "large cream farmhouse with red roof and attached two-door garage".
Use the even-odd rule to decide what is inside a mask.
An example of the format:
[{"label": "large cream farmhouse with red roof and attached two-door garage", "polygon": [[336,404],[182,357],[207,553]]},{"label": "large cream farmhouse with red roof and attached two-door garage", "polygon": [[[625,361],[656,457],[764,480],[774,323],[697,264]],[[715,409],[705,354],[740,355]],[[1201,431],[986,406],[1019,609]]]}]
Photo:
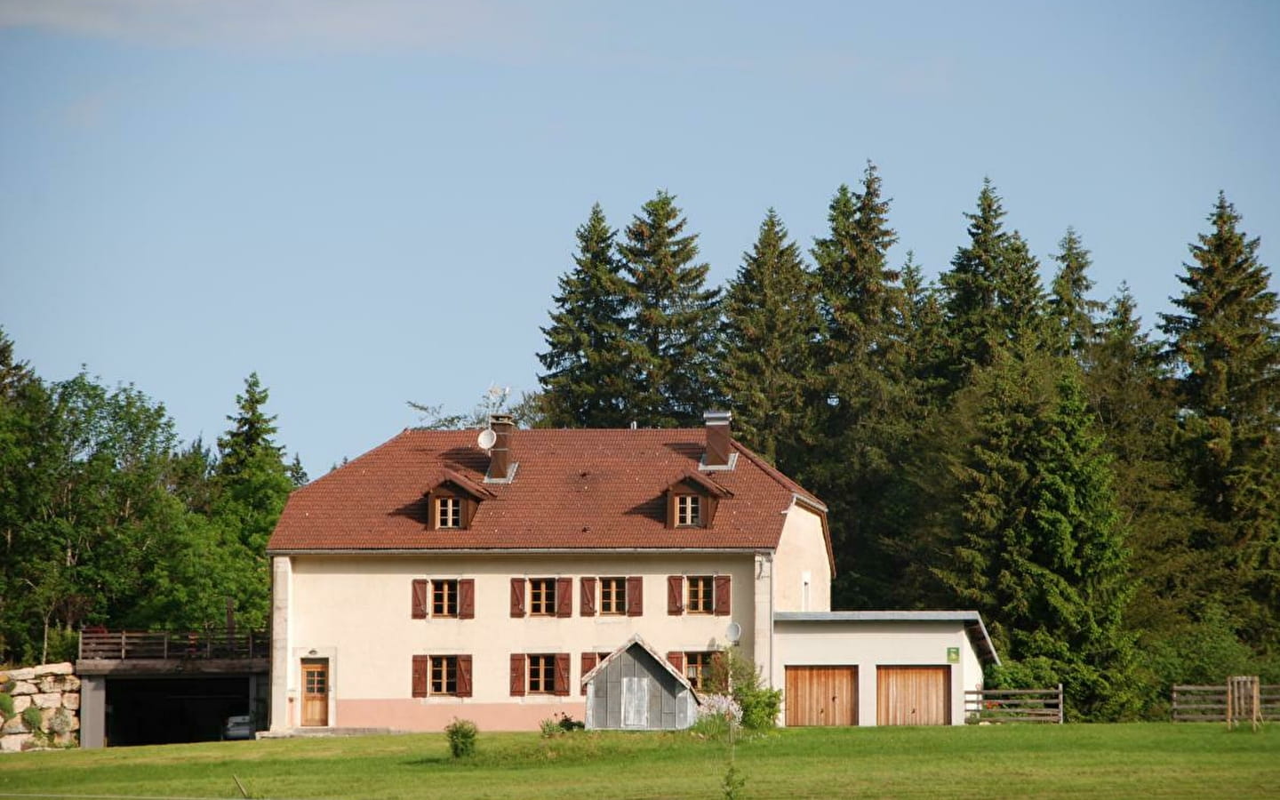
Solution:
[{"label": "large cream farmhouse with red roof and attached two-door garage", "polygon": [[294,492],[268,545],[271,730],[680,727],[726,646],[787,724],[963,722],[995,659],[977,614],[832,612],[826,506],[705,419],[406,430]]}]

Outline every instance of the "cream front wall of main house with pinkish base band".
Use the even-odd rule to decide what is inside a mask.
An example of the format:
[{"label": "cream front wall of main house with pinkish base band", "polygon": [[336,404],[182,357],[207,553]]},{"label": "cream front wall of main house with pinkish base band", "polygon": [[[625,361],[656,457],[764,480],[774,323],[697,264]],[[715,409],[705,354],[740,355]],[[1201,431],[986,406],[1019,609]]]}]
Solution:
[{"label": "cream front wall of main house with pinkish base band", "polygon": [[[489,730],[520,730],[557,710],[581,718],[581,653],[612,652],[634,634],[659,653],[712,650],[726,644],[733,621],[744,631],[744,655],[755,658],[759,559],[753,553],[276,557],[271,727],[300,722],[303,658],[329,659],[335,727],[439,730],[465,716]],[[716,573],[732,576],[730,616],[667,613],[668,575]],[[643,616],[580,616],[580,577],[635,575],[644,577]],[[475,618],[412,620],[411,581],[419,577],[474,579]],[[511,617],[512,577],[571,577],[573,616]],[[570,696],[511,696],[513,653],[570,653]],[[430,654],[470,654],[474,696],[413,699],[412,657]],[[762,660],[769,664],[768,657]]]}]

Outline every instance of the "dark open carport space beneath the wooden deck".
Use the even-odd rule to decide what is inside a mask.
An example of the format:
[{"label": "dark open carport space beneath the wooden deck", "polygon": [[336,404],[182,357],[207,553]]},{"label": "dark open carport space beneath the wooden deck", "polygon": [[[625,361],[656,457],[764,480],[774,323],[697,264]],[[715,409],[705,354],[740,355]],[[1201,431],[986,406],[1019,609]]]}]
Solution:
[{"label": "dark open carport space beneath the wooden deck", "polygon": [[106,744],[216,741],[233,714],[250,713],[250,678],[108,678]]}]

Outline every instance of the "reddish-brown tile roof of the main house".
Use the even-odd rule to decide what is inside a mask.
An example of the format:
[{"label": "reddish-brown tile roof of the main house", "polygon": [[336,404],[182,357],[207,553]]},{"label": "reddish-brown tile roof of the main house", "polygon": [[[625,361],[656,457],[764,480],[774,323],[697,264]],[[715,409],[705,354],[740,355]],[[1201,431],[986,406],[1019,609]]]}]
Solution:
[{"label": "reddish-brown tile roof of the main house", "polygon": [[[698,472],[705,429],[516,430],[509,484],[484,483],[477,433],[406,430],[307,484],[268,549],[776,549],[795,495],[820,507],[735,442],[733,470],[699,474],[727,490],[714,526],[668,529],[664,492]],[[470,529],[430,530],[425,494],[457,476],[493,497],[481,497]]]}]

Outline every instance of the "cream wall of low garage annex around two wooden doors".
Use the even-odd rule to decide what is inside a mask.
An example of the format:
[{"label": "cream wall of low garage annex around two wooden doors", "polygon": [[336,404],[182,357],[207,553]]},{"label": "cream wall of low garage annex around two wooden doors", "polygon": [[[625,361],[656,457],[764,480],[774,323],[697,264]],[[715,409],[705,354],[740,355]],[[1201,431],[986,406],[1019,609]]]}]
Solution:
[{"label": "cream wall of low garage annex around two wooden doors", "polygon": [[[838,612],[837,612],[838,613]],[[964,692],[982,687],[982,664],[960,620],[774,621],[773,672],[782,687],[787,666],[858,667],[858,724],[876,724],[876,668],[951,669],[951,722],[964,724]],[[960,648],[959,663],[947,649]],[[786,698],[783,696],[786,717]]]}]

